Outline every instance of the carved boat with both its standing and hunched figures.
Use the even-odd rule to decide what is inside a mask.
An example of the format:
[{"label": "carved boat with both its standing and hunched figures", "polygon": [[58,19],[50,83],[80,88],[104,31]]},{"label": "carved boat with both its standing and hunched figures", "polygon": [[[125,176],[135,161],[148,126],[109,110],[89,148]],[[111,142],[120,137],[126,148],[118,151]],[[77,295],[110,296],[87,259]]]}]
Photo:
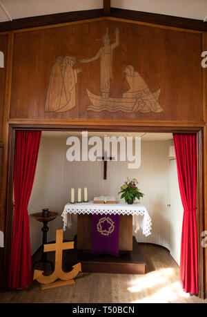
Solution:
[{"label": "carved boat with both its standing and hunched figures", "polygon": [[111,113],[117,111],[124,111],[126,113],[133,113],[140,111],[148,113],[150,111],[159,113],[162,111],[157,99],[159,98],[160,88],[154,94],[142,79],[138,72],[135,72],[133,66],[126,66],[124,73],[126,73],[126,81],[130,89],[123,93],[122,97],[110,97],[110,79],[112,78],[112,52],[119,46],[119,28],[115,30],[115,43],[110,45],[110,37],[108,35],[108,28],[106,35],[103,37],[104,46],[99,49],[95,57],[91,59],[82,59],[81,63],[88,63],[101,59],[101,95],[95,95],[87,89],[88,97],[92,105],[88,106],[87,111],[110,111]]}]

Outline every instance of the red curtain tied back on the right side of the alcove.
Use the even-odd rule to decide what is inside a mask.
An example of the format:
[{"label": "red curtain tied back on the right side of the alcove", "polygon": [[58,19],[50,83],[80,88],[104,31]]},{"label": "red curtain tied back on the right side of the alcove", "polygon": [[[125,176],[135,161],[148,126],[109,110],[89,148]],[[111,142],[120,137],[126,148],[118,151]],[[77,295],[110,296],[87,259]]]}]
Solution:
[{"label": "red curtain tied back on the right side of the alcove", "polygon": [[186,293],[198,293],[197,255],[197,144],[195,134],[173,134],[184,218],[181,236],[180,278]]}]

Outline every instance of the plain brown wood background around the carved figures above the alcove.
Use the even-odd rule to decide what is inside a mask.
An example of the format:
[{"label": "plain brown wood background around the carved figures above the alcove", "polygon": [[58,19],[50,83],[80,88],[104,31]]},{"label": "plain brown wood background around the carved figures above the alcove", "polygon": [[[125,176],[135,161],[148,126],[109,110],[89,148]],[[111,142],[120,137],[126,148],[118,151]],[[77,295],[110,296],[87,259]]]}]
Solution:
[{"label": "plain brown wood background around the carved figures above the alcove", "polygon": [[[82,64],[103,46],[106,29],[110,44],[119,28],[119,46],[112,53],[110,97],[121,97],[129,89],[124,68],[131,65],[152,92],[161,88],[159,113],[87,111],[91,104],[86,88],[100,95],[100,59]],[[99,40],[97,40],[99,39]],[[14,34],[11,119],[128,119],[141,121],[203,120],[201,34],[142,26],[119,21],[92,21]],[[57,57],[76,57],[75,108],[63,113],[46,113],[44,105],[50,70]]]}]

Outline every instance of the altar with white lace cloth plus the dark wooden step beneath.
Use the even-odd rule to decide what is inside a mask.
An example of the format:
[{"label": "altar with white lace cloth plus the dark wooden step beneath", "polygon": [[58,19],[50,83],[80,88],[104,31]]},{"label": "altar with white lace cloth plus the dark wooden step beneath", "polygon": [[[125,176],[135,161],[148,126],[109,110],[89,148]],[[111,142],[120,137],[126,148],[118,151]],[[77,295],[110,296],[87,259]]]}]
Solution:
[{"label": "altar with white lace cloth plus the dark wooden step beneath", "polygon": [[[63,229],[71,228],[72,215],[77,214],[77,251],[68,253],[64,268],[70,271],[75,261],[81,262],[83,272],[145,274],[144,260],[139,243],[133,236],[140,229],[144,236],[149,236],[152,222],[146,207],[140,202],[126,204],[94,204],[81,202],[66,204],[63,213]],[[119,256],[110,254],[92,254],[92,215],[119,215]],[[71,259],[72,257],[72,259]]]}]

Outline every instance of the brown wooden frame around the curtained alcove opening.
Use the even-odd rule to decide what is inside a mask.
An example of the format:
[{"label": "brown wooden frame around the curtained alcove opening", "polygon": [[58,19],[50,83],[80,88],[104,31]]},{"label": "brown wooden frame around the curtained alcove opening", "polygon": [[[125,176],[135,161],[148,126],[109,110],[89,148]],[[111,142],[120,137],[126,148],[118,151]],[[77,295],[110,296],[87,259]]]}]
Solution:
[{"label": "brown wooden frame around the curtained alcove opening", "polygon": [[196,133],[197,134],[197,233],[198,233],[198,265],[199,265],[199,298],[204,299],[206,294],[205,280],[205,249],[201,247],[201,233],[204,228],[204,127],[203,126],[135,126],[130,122],[124,125],[106,125],[103,122],[88,122],[86,124],[28,124],[10,123],[8,140],[8,169],[7,169],[7,192],[6,192],[6,219],[5,219],[5,246],[3,259],[3,284],[8,289],[8,268],[10,260],[10,246],[12,238],[12,188],[13,188],[13,163],[15,131],[108,131],[130,133]]}]

